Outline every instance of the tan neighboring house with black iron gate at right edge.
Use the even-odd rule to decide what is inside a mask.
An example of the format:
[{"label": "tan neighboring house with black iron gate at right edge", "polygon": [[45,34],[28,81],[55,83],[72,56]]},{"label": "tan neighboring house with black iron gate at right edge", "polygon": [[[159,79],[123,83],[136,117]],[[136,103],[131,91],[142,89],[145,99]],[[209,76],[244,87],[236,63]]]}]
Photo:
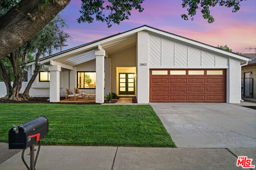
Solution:
[{"label": "tan neighboring house with black iron gate at right edge", "polygon": [[247,64],[241,63],[242,97],[256,98],[256,54],[247,53],[241,55],[250,58]]}]

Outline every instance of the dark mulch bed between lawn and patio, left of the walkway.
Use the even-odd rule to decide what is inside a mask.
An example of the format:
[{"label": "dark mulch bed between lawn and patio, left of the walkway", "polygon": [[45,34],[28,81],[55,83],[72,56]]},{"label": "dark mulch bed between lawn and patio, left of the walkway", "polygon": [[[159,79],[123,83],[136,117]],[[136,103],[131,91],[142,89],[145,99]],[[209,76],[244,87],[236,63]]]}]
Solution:
[{"label": "dark mulch bed between lawn and patio, left of the walkway", "polygon": [[[49,97],[33,97],[33,100],[22,100],[22,101],[16,101],[16,100],[3,100],[0,99],[0,103],[51,103],[51,104],[101,104],[101,103],[95,103],[95,102],[50,102],[47,101]],[[65,97],[60,97],[60,100],[64,100]]]}]

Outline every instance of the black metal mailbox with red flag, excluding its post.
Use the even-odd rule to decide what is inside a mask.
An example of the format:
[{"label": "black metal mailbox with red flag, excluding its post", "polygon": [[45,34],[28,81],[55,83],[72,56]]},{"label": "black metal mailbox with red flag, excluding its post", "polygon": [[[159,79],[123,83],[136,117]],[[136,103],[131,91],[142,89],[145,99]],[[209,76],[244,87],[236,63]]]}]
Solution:
[{"label": "black metal mailbox with red flag, excluding its post", "polygon": [[26,149],[48,135],[48,120],[39,116],[9,131],[9,149]]}]

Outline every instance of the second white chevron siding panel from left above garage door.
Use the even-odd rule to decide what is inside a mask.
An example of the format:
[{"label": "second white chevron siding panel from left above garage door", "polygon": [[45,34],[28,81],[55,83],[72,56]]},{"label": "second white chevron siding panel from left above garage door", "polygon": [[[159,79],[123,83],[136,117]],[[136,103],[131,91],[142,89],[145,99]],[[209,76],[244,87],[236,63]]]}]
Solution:
[{"label": "second white chevron siding panel from left above garage door", "polygon": [[162,66],[174,66],[174,39],[162,36]]}]

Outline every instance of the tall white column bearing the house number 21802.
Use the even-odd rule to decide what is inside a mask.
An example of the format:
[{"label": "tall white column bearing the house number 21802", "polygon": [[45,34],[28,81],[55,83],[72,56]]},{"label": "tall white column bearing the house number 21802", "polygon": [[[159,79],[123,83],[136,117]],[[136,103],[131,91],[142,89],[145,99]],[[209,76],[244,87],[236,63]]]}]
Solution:
[{"label": "tall white column bearing the house number 21802", "polygon": [[[146,66],[140,66],[146,63]],[[136,86],[138,103],[149,102],[149,69],[148,69],[148,32],[138,32]]]}]

